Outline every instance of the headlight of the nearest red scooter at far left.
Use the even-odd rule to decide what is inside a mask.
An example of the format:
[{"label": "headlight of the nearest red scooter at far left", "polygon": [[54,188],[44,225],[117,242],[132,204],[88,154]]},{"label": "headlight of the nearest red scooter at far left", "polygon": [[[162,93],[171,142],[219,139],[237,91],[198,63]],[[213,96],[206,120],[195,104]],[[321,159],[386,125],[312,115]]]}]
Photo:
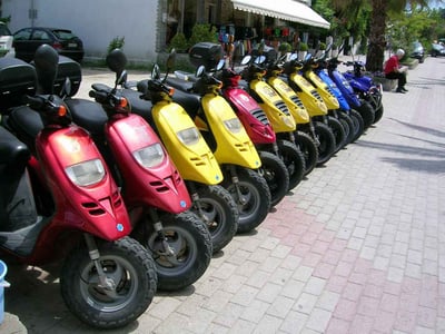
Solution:
[{"label": "headlight of the nearest red scooter at far left", "polygon": [[69,179],[80,187],[88,187],[100,183],[105,177],[105,168],[99,159],[72,165],[65,169]]}]

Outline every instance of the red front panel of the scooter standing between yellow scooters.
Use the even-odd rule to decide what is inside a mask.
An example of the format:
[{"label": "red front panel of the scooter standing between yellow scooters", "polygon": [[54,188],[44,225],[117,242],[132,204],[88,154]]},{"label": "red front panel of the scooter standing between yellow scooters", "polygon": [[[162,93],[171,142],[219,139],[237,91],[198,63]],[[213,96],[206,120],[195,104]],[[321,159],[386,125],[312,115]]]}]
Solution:
[{"label": "red front panel of the scooter standing between yellow scooters", "polygon": [[273,144],[276,141],[275,131],[266,114],[246,90],[228,87],[224,89],[222,94],[234,106],[234,111],[254,144]]}]

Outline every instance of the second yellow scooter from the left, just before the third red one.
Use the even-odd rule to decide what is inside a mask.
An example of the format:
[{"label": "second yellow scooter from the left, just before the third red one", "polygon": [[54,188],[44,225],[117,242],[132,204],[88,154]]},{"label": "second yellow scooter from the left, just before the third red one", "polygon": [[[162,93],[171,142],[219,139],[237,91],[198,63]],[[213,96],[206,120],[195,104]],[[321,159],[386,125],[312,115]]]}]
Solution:
[{"label": "second yellow scooter from the left, just before the third red one", "polygon": [[[221,69],[225,60],[218,62]],[[206,138],[224,173],[222,185],[238,205],[238,232],[256,228],[270,209],[270,191],[261,161],[240,120],[221,97],[221,82],[199,66],[196,82],[168,78],[177,89],[174,100],[184,106]]]}]

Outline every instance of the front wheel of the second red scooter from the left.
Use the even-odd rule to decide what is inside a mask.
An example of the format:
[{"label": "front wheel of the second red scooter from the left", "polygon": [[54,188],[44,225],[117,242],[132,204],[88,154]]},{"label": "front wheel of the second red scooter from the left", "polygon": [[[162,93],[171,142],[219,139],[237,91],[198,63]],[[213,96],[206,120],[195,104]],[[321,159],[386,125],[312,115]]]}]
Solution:
[{"label": "front wheel of the second red scooter from the left", "polygon": [[178,291],[198,281],[209,266],[212,255],[210,233],[206,224],[191,212],[178,215],[162,214],[160,220],[174,256],[166,254],[162,240],[152,229],[152,224],[146,226],[148,236],[139,239],[138,234],[138,239],[150,249],[155,259],[158,289]]}]

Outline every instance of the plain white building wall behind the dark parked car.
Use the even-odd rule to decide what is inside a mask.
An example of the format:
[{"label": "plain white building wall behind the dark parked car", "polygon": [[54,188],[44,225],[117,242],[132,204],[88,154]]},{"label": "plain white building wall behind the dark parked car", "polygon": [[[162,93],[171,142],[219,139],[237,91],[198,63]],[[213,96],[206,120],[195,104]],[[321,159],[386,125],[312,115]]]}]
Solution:
[{"label": "plain white building wall behind the dark parked car", "polygon": [[83,40],[86,57],[102,57],[115,37],[125,37],[123,50],[135,61],[156,59],[158,0],[3,0],[11,31],[33,26],[71,29]]}]

